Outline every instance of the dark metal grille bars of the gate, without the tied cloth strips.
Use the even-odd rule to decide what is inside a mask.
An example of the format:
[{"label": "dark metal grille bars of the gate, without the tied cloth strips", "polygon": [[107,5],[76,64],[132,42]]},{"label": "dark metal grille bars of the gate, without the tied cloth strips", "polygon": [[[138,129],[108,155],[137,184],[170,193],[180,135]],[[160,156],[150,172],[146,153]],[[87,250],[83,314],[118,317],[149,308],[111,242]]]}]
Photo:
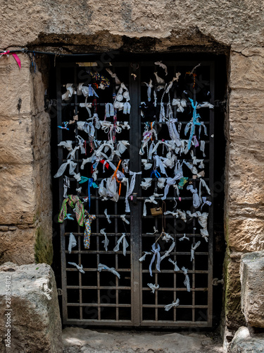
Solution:
[{"label": "dark metal grille bars of the gate, without the tied cloth strips", "polygon": [[[175,76],[180,71],[182,75],[191,71],[196,63],[191,62],[166,62],[168,65],[168,76]],[[117,134],[117,140],[130,140],[130,148],[124,152],[122,159],[130,158],[130,169],[133,172],[142,170],[142,176],[137,176],[137,182],[134,189],[134,198],[130,202],[130,214],[126,218],[130,221],[130,225],[122,222],[120,215],[125,213],[125,191],[124,186],[121,187],[120,200],[118,203],[113,201],[101,201],[98,189],[91,189],[91,214],[96,215],[96,220],[92,222],[92,237],[90,249],[84,249],[83,245],[83,228],[77,225],[77,222],[67,220],[61,225],[61,258],[62,258],[62,287],[63,287],[63,323],[65,324],[81,324],[81,325],[145,325],[145,326],[202,326],[208,327],[212,324],[212,263],[213,263],[213,205],[208,208],[204,207],[204,212],[209,212],[208,232],[210,234],[208,243],[201,239],[199,223],[196,219],[187,219],[186,222],[175,218],[172,215],[165,217],[166,232],[173,237],[175,241],[175,249],[170,253],[170,258],[177,260],[179,267],[186,267],[189,270],[189,279],[191,292],[187,292],[184,286],[184,274],[182,271],[175,272],[172,263],[165,258],[161,262],[161,273],[159,273],[153,265],[153,277],[149,276],[149,262],[151,256],[146,261],[139,263],[142,251],[150,251],[153,242],[157,241],[162,229],[162,217],[152,217],[147,205],[147,215],[142,216],[144,201],[153,194],[155,189],[158,193],[163,190],[157,188],[157,181],[152,182],[151,189],[142,190],[140,183],[144,177],[149,177],[149,171],[142,168],[141,156],[139,149],[141,146],[142,133],[144,131],[147,119],[141,119],[139,112],[140,102],[146,101],[146,85],[141,82],[149,82],[149,76],[153,73],[156,66],[153,63],[118,63],[113,64],[111,69],[117,76],[125,82],[130,90],[130,104],[132,106],[130,115],[118,112],[118,121],[127,121],[130,124],[130,130],[123,130],[120,136]],[[131,73],[137,73],[137,80],[132,78]],[[101,71],[107,76],[106,71]],[[203,62],[200,70],[201,75],[196,78],[196,90],[192,89],[193,81],[188,77],[184,88],[189,91],[189,95],[200,102],[200,92],[202,89],[210,91],[211,100],[213,100],[213,82],[214,67],[211,62]],[[73,95],[70,102],[61,101],[61,92],[65,91],[63,85],[67,83],[84,82],[89,77],[85,74],[84,69],[75,64],[58,64],[57,68],[57,113],[58,125],[63,121],[73,119],[73,115],[78,114],[80,121],[85,121],[89,116],[87,109],[80,107],[80,103],[85,102],[84,97]],[[93,103],[92,109],[96,109],[99,119],[103,119],[106,102],[112,102],[112,95],[115,92],[115,84],[111,83],[111,88],[101,91],[100,99]],[[161,102],[162,92],[158,92],[158,102]],[[175,90],[175,97],[177,90]],[[173,97],[171,97],[172,99]],[[168,101],[168,96],[164,97],[164,104]],[[158,112],[160,105],[157,104],[156,130],[158,138],[169,139],[168,128],[165,123],[158,124]],[[174,107],[174,116],[182,122],[181,138],[184,138],[184,126],[191,119],[191,109],[184,113],[178,113],[177,107]],[[201,139],[206,140],[206,158],[204,160],[206,177],[204,180],[213,188],[213,111],[209,109],[201,109],[201,120],[204,121],[208,128],[208,136],[201,133]],[[150,124],[150,122],[149,122]],[[77,131],[77,128],[70,128],[70,131],[58,129],[58,141],[75,140],[75,136],[80,135],[84,140],[88,140],[87,135],[83,131]],[[210,137],[212,136],[212,137]],[[107,140],[108,134],[103,131],[96,130],[96,140]],[[75,141],[77,142],[77,141]],[[162,153],[162,147],[159,147],[159,153]],[[58,165],[66,161],[68,155],[67,150],[58,148]],[[84,176],[91,175],[91,163],[85,164],[84,169],[80,169],[82,158],[91,155],[89,144],[87,144],[87,156],[81,155],[80,151],[76,152],[77,169]],[[189,156],[189,154],[187,155]],[[185,155],[179,157],[179,160],[188,158]],[[201,152],[196,149],[196,157],[203,158]],[[144,157],[143,157],[144,158]],[[153,162],[153,161],[152,161]],[[191,162],[191,160],[189,160]],[[114,159],[115,165],[118,159]],[[173,170],[173,169],[172,169]],[[102,167],[99,168],[98,183],[102,177],[111,177],[113,172],[105,169],[102,174]],[[193,179],[191,172],[184,167],[184,176],[189,177],[189,181],[194,187],[199,188],[199,180]],[[59,181],[59,198],[60,203],[63,201],[63,177]],[[75,189],[82,186],[80,198],[88,196],[87,184],[78,184],[74,178],[70,178],[70,189],[68,194],[77,194]],[[183,189],[180,192],[180,199],[177,197],[175,189],[170,187],[168,197],[166,199],[166,209],[173,210],[177,201],[177,208],[181,210],[191,210],[192,195],[189,191]],[[161,196],[156,198],[161,203]],[[151,205],[151,207],[153,207]],[[207,208],[206,208],[207,207]],[[86,207],[87,208],[87,204]],[[111,224],[108,223],[104,210],[107,209],[110,215]],[[73,216],[74,217],[74,216]],[[159,230],[157,234],[148,234],[153,232],[153,227]],[[100,229],[106,228],[106,233],[110,241],[108,251],[103,248],[103,235]],[[77,239],[77,246],[68,253],[68,239],[70,232],[73,232]],[[113,251],[117,240],[125,232],[127,241],[130,246],[127,249],[127,256],[122,254],[122,246],[120,251]],[[186,234],[189,241],[179,241]],[[190,261],[191,244],[201,240],[201,245],[195,251],[194,261]],[[168,250],[168,243],[159,241],[161,244],[161,256]],[[78,272],[76,268],[68,265],[68,262],[82,264],[85,274]],[[113,267],[120,273],[118,277],[108,272],[97,271],[99,263]],[[160,289],[151,293],[147,284],[149,282],[158,283]],[[164,306],[172,303],[177,298],[180,299],[180,306],[165,311]]]}]

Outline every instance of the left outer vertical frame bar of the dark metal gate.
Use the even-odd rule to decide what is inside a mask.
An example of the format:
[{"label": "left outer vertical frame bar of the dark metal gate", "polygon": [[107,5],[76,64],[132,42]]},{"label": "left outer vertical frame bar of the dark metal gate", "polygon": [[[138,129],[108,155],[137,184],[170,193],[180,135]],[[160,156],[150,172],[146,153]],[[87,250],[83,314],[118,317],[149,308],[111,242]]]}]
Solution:
[{"label": "left outer vertical frame bar of the dark metal gate", "polygon": [[[62,125],[62,106],[61,106],[61,66],[57,64],[56,68],[56,89],[57,89],[57,125]],[[58,128],[58,141],[61,141],[63,137],[63,130]],[[58,165],[61,166],[63,161],[63,149],[58,147]],[[63,177],[60,177],[58,181],[59,189],[59,203],[60,207],[63,203]],[[65,225],[60,225],[60,237],[61,237],[61,287],[63,291],[62,303],[63,303],[63,323],[67,321],[67,273],[66,273],[66,254],[65,254]]]}]

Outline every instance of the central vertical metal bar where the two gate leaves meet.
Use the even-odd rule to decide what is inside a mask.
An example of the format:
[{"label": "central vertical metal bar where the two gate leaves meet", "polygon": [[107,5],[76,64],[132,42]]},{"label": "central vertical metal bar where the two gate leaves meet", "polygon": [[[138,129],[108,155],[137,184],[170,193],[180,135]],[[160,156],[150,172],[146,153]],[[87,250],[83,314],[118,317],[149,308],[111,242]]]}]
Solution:
[{"label": "central vertical metal bar where the two gate leaves meet", "polygon": [[[139,172],[141,170],[141,158],[139,149],[141,143],[141,116],[140,104],[140,68],[141,64],[129,66],[130,80],[130,170]],[[131,73],[137,70],[137,79],[132,78]],[[134,193],[140,191],[141,177],[137,175]],[[139,326],[142,320],[142,263],[139,262],[139,254],[142,253],[142,203],[130,203],[130,244],[131,244],[131,306],[132,323]]]}]

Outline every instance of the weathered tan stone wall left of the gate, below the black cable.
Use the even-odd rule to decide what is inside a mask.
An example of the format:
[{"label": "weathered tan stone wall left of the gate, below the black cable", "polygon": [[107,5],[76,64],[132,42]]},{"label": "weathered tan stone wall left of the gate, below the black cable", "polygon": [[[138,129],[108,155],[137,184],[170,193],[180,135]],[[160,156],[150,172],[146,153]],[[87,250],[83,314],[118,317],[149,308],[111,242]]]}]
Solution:
[{"label": "weathered tan stone wall left of the gate, below the black cable", "polygon": [[0,61],[0,263],[52,262],[49,115],[40,73]]}]

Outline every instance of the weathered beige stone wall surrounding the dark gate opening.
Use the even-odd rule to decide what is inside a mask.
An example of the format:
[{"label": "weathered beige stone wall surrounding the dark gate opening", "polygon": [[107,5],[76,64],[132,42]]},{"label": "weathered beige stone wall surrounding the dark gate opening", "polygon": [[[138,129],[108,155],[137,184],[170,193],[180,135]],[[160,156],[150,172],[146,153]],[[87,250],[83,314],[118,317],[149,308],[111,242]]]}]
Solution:
[{"label": "weathered beige stone wall surrounding the dark gate opening", "polygon": [[[236,329],[241,254],[264,247],[263,1],[11,0],[1,14],[4,49],[227,54],[225,318]],[[49,116],[40,73],[20,59],[21,70],[0,60],[1,262],[50,262]]]}]

